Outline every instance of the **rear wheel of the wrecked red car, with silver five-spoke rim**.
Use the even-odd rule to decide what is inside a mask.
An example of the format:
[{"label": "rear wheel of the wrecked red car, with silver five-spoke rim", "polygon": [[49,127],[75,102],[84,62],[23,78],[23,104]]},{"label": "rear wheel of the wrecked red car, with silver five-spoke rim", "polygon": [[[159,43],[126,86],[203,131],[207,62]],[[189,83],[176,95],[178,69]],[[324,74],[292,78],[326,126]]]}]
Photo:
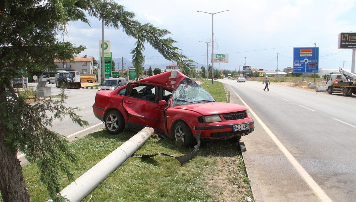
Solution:
[{"label": "rear wheel of the wrecked red car, with silver five-spoke rim", "polygon": [[105,115],[105,128],[111,134],[118,134],[124,130],[125,120],[122,114],[116,110],[111,110]]}]

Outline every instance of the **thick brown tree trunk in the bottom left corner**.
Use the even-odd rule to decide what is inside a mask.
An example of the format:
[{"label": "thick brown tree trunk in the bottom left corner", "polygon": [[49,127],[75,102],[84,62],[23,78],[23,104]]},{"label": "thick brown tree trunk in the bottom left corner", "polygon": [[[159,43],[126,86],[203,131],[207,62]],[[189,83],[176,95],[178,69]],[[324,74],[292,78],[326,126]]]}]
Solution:
[{"label": "thick brown tree trunk in the bottom left corner", "polygon": [[5,144],[6,132],[0,120],[0,191],[4,202],[31,201],[17,151]]}]

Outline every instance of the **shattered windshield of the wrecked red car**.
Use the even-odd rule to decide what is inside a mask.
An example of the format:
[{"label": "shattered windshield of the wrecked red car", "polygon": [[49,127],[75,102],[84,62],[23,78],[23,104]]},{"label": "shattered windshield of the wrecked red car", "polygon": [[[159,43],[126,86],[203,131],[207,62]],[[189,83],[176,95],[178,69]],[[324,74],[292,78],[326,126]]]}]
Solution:
[{"label": "shattered windshield of the wrecked red car", "polygon": [[186,78],[179,83],[172,93],[173,107],[204,102],[216,102],[206,90],[195,83],[193,80]]}]

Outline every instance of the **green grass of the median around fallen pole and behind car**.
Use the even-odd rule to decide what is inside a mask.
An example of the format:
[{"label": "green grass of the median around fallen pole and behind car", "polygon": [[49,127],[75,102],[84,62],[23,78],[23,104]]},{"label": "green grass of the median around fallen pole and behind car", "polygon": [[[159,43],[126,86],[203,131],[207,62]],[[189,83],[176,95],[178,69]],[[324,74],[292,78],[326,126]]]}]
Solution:
[{"label": "green grass of the median around fallen pole and behind car", "polygon": [[[226,102],[224,86],[220,82],[202,84],[220,102]],[[225,101],[224,101],[225,100]],[[105,129],[70,143],[70,149],[79,157],[73,167],[79,177],[110,154],[136,132],[125,130],[111,135]],[[171,140],[152,136],[135,154],[166,154],[182,156],[193,148],[182,148]],[[31,199],[34,202],[49,199],[46,187],[39,181],[38,169],[33,164],[22,167]],[[61,180],[62,189],[69,185]],[[167,156],[150,159],[130,157],[112,172],[82,201],[246,201],[252,198],[250,181],[245,173],[240,147],[230,141],[207,141],[201,144],[198,155],[184,165]],[[1,199],[0,199],[1,201]]]}]

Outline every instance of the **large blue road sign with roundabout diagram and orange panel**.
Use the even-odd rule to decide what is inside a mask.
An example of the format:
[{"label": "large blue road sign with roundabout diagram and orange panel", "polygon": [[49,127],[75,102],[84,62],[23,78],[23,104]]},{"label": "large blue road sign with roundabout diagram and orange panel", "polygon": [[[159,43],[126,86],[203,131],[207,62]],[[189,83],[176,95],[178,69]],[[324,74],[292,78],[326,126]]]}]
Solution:
[{"label": "large blue road sign with roundabout diagram and orange panel", "polygon": [[293,72],[294,73],[314,73],[314,71],[319,72],[318,60],[319,60],[319,47],[293,48]]}]

